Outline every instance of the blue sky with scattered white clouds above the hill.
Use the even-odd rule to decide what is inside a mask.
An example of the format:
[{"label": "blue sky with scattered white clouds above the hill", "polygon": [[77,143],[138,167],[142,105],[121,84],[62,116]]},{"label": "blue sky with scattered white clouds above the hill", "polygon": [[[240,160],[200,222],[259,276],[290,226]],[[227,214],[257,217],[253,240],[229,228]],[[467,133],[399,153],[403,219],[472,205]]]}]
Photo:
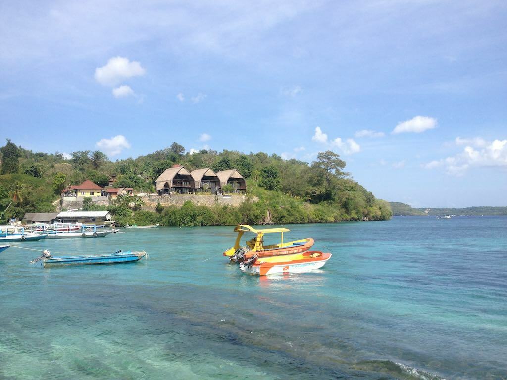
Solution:
[{"label": "blue sky with scattered white clouds above the hill", "polygon": [[506,206],[504,1],[0,3],[0,138],[312,162],[377,198]]}]

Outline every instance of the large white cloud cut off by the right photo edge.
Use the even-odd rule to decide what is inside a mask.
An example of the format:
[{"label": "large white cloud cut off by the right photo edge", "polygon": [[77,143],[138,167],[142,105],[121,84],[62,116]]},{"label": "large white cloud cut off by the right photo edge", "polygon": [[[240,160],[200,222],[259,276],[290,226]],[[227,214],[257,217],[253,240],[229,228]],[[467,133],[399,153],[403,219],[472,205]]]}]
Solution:
[{"label": "large white cloud cut off by the right photo edge", "polygon": [[[480,141],[482,144],[482,141]],[[423,165],[426,169],[444,167],[451,175],[463,175],[469,168],[504,167],[507,168],[507,139],[485,142],[484,147],[476,150],[466,146],[455,156],[434,160]]]}]

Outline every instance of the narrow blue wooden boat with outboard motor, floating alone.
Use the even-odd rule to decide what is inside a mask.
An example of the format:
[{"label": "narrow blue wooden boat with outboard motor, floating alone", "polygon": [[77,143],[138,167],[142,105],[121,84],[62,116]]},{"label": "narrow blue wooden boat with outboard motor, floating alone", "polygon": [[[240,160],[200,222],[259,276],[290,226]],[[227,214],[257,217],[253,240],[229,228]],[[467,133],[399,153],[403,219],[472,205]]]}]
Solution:
[{"label": "narrow blue wooden boat with outboard motor, floating alone", "polygon": [[104,255],[86,255],[86,256],[59,256],[53,257],[48,250],[45,250],[42,256],[34,258],[30,263],[42,262],[44,267],[53,267],[56,265],[81,265],[81,264],[119,264],[124,262],[138,261],[143,257],[148,257],[144,251],[118,251]]}]

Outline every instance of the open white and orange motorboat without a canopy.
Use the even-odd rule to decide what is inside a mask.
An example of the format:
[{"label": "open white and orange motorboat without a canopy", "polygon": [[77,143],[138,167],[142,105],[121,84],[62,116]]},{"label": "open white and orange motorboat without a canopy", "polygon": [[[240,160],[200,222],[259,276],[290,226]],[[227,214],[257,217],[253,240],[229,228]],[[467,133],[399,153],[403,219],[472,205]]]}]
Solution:
[{"label": "open white and orange motorboat without a canopy", "polygon": [[258,276],[280,273],[305,273],[322,268],[331,256],[331,253],[320,251],[269,257],[257,257],[257,255],[253,255],[240,263],[239,269],[243,273]]}]

